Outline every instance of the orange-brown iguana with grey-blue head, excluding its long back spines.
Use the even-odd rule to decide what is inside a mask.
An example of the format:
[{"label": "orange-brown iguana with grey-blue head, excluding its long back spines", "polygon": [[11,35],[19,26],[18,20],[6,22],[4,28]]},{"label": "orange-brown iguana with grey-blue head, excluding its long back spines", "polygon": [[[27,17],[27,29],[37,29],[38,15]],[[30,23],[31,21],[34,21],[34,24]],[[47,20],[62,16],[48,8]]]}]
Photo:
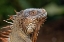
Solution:
[{"label": "orange-brown iguana with grey-blue head, excluding its long back spines", "polygon": [[[36,42],[40,26],[45,22],[47,12],[44,9],[25,9],[10,16],[13,23],[9,42]],[[6,21],[7,22],[7,21]]]}]

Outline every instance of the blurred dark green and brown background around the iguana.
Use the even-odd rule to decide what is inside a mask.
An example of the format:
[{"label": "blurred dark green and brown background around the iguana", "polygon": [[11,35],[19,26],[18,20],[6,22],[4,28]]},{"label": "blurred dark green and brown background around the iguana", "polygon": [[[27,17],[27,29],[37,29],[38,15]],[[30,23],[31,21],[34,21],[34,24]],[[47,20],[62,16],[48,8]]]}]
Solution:
[{"label": "blurred dark green and brown background around the iguana", "polygon": [[0,0],[0,27],[7,24],[3,20],[15,14],[14,10],[26,8],[44,8],[48,13],[37,42],[64,42],[64,0]]}]

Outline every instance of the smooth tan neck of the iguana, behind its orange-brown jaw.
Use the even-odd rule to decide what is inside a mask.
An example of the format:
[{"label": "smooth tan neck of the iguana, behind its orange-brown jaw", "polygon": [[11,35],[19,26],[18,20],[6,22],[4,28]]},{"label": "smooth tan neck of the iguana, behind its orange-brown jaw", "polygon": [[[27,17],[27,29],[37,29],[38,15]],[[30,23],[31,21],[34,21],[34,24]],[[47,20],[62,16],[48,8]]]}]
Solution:
[{"label": "smooth tan neck of the iguana, behind its orange-brown jaw", "polygon": [[[17,24],[16,24],[17,23]],[[15,21],[11,27],[10,42],[32,42]]]}]

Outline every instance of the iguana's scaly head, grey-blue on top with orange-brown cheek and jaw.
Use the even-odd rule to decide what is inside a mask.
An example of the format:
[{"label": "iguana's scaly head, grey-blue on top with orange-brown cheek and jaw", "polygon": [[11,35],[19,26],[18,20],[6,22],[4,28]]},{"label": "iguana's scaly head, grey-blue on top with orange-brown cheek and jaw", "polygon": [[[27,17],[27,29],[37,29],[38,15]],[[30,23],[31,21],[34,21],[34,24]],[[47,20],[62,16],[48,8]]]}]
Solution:
[{"label": "iguana's scaly head, grey-blue on top with orange-brown cheek and jaw", "polygon": [[45,9],[30,8],[20,11],[22,17],[24,17],[23,26],[26,28],[27,33],[34,32],[38,25],[44,23],[47,12]]}]

